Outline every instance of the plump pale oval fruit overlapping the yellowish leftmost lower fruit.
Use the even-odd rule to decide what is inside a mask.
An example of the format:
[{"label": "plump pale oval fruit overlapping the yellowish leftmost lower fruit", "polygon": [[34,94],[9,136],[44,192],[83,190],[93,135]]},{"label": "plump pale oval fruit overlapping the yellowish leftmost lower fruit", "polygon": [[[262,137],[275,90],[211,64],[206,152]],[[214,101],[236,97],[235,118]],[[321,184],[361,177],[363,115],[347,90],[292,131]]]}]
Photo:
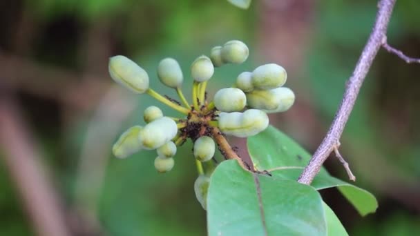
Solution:
[{"label": "plump pale oval fruit overlapping the yellowish leftmost lower fruit", "polygon": [[175,121],[168,117],[161,117],[146,124],[140,130],[138,139],[146,150],[153,150],[171,141],[178,132]]}]

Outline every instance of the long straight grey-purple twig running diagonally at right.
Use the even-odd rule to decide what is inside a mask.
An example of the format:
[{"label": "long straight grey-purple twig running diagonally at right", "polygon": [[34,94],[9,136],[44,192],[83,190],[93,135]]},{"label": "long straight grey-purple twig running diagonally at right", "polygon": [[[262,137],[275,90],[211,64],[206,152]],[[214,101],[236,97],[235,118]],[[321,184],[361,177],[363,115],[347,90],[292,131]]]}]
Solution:
[{"label": "long straight grey-purple twig running diagonally at right", "polygon": [[339,145],[339,139],[343,133],[345,124],[350,117],[350,113],[352,112],[354,102],[359,94],[363,80],[365,79],[367,72],[369,72],[370,66],[372,66],[372,61],[383,45],[395,1],[396,0],[379,1],[379,10],[376,14],[374,28],[367,40],[365,48],[363,48],[359,61],[356,63],[356,68],[354,68],[352,76],[347,81],[341,105],[336,112],[334,121],[332,121],[330,130],[328,130],[323,142],[314,153],[314,156],[309,161],[309,164],[303,170],[303,173],[300,175],[298,179],[300,183],[311,184],[312,180],[321,169],[324,161],[334,150],[334,147]]}]

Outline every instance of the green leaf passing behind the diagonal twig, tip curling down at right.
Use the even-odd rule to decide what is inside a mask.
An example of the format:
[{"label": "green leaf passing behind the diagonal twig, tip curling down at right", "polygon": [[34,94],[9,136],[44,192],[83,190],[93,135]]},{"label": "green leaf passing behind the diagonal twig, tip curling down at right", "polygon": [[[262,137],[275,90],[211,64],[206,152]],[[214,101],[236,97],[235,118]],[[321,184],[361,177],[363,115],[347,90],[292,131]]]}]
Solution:
[{"label": "green leaf passing behind the diagonal twig, tip curling down at right", "polygon": [[[268,170],[277,179],[298,179],[311,159],[311,155],[296,141],[273,126],[269,126],[258,135],[249,137],[247,146],[256,169]],[[378,207],[371,193],[332,177],[325,168],[321,168],[311,185],[318,190],[337,187],[361,215],[374,213]]]}]

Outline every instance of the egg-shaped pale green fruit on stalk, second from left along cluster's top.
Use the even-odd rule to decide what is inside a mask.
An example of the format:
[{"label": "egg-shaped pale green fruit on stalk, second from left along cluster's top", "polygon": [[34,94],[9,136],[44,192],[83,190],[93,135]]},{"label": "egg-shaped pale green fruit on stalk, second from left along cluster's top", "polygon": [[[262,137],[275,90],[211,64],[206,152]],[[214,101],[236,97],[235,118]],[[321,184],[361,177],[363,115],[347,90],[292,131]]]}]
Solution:
[{"label": "egg-shaped pale green fruit on stalk, second from left along cluster's top", "polygon": [[160,81],[169,88],[180,87],[184,80],[180,64],[170,57],[160,61],[158,66],[158,77]]}]

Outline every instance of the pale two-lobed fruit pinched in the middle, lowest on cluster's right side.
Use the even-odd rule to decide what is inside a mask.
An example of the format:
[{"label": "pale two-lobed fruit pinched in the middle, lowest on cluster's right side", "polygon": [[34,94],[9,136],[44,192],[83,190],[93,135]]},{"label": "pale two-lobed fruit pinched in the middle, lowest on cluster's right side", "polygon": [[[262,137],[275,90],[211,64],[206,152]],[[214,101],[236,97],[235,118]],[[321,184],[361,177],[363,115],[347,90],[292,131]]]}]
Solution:
[{"label": "pale two-lobed fruit pinched in the middle, lowest on cluster's right side", "polygon": [[245,112],[221,112],[219,114],[219,128],[227,135],[249,137],[265,130],[269,125],[267,113],[258,109]]}]

